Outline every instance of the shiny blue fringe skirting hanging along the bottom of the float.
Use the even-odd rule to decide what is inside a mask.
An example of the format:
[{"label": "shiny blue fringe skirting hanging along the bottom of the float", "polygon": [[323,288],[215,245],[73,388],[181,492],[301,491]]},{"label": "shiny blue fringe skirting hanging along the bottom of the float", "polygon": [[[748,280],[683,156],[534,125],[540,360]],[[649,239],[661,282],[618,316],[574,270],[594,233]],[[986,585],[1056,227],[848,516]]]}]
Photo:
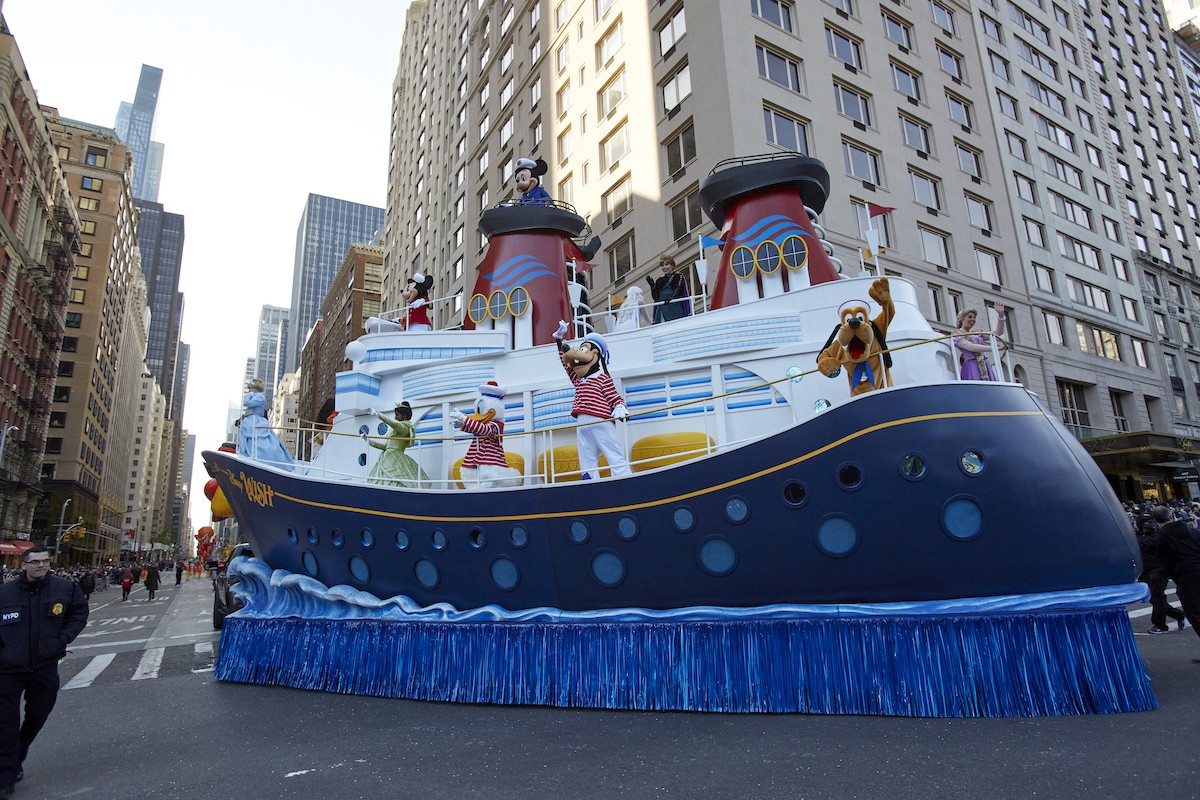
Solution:
[{"label": "shiny blue fringe skirting hanging along the bottom of the float", "polygon": [[229,616],[220,680],[563,708],[1055,716],[1158,706],[1123,607],[724,621]]}]

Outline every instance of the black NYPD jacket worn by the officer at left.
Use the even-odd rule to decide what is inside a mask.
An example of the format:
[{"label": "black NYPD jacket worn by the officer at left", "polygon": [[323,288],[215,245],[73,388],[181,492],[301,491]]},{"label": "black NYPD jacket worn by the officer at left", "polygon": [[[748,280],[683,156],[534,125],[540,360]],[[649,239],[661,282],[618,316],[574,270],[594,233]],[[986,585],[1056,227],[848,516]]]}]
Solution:
[{"label": "black NYPD jacket worn by the officer at left", "polygon": [[0,585],[0,672],[31,672],[58,662],[88,624],[88,601],[66,578],[47,576]]}]

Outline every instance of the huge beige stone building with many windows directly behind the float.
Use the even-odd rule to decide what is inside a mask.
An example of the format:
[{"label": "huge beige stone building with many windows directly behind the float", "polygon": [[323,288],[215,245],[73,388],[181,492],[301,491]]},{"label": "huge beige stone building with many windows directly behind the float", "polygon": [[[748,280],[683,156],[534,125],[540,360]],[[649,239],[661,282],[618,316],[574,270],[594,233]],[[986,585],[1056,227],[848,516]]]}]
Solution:
[{"label": "huge beige stone building with many windows directly behind the float", "polygon": [[[545,188],[601,236],[602,308],[660,255],[697,287],[697,235],[719,235],[698,187],[720,161],[800,152],[829,168],[822,223],[847,273],[874,222],[886,251],[866,269],[916,284],[938,330],[1012,308],[1013,377],[1098,443],[1122,495],[1200,493],[1171,467],[1200,431],[1200,157],[1180,59],[1151,2],[416,0],[383,305],[419,264],[451,299],[437,324],[461,323],[475,222],[514,196],[518,157],[544,158]],[[869,204],[894,211],[870,221]]]}]

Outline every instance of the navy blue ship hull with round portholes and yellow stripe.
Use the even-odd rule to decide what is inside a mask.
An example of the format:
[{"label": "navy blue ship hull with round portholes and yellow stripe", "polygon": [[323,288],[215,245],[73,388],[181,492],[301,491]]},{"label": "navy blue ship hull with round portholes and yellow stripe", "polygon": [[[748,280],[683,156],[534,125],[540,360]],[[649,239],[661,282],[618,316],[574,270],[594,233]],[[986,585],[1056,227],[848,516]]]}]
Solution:
[{"label": "navy blue ship hull with round portholes and yellow stripe", "polygon": [[421,606],[878,603],[1120,585],[1140,571],[1104,476],[1016,385],[874,392],[594,483],[407,491],[204,456],[268,565]]}]

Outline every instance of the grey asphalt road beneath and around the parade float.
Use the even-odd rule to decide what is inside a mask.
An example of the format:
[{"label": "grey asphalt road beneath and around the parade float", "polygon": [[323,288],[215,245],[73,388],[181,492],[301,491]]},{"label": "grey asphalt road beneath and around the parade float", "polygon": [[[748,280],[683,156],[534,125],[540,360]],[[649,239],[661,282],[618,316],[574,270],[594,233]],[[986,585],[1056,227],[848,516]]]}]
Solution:
[{"label": "grey asphalt road beneath and around the parade float", "polygon": [[[101,621],[109,613],[145,615],[130,610],[137,597],[94,613],[85,633],[112,628],[104,636],[126,644],[73,648],[61,669],[65,685],[97,656],[114,655],[90,681],[76,680],[60,693],[14,796],[1092,800],[1200,793],[1192,754],[1200,732],[1200,664],[1190,662],[1200,657],[1200,639],[1190,630],[1139,634],[1162,704],[1144,714],[647,714],[221,684],[205,650],[216,636],[208,583],[178,591],[168,585],[152,622]],[[1150,626],[1140,609],[1133,616],[1135,631]],[[121,631],[134,625],[144,627]],[[143,634],[144,642],[128,644]],[[86,644],[102,644],[100,638]],[[161,656],[154,656],[157,650]]]}]

